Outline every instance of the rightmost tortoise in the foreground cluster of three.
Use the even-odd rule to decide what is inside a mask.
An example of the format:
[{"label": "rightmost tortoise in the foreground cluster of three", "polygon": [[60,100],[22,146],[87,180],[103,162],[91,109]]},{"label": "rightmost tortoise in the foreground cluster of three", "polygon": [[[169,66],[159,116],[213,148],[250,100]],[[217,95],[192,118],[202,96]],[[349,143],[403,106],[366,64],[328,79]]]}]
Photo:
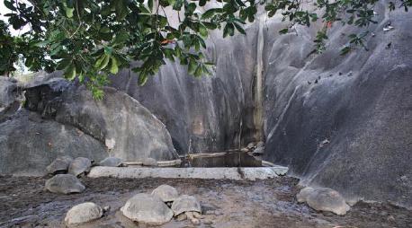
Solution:
[{"label": "rightmost tortoise in the foreground cluster of three", "polygon": [[201,204],[193,196],[182,195],[177,197],[172,204],[172,210],[179,221],[188,218],[193,224],[199,224],[198,218],[202,218]]}]

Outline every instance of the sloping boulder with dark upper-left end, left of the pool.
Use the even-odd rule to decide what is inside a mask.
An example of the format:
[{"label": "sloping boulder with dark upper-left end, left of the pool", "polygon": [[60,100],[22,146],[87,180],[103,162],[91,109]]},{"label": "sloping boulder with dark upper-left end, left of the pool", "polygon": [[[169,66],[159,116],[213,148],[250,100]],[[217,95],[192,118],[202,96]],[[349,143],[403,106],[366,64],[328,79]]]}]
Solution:
[{"label": "sloping boulder with dark upper-left end, left of the pool", "polygon": [[26,108],[77,127],[124,161],[177,158],[162,122],[127,94],[110,87],[103,90],[103,100],[96,101],[84,86],[55,78],[26,89]]}]

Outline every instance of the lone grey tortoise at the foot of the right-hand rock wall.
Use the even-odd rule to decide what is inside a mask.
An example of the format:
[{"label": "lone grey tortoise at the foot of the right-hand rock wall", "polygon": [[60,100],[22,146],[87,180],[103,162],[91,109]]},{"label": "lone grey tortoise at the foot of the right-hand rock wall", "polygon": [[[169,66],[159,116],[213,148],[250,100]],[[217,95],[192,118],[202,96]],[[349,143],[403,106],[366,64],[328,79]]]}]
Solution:
[{"label": "lone grey tortoise at the foot of the right-hand rock wall", "polygon": [[339,192],[327,188],[305,188],[301,189],[296,196],[298,202],[306,202],[317,211],[330,211],[336,215],[345,215],[351,208],[345,202]]}]

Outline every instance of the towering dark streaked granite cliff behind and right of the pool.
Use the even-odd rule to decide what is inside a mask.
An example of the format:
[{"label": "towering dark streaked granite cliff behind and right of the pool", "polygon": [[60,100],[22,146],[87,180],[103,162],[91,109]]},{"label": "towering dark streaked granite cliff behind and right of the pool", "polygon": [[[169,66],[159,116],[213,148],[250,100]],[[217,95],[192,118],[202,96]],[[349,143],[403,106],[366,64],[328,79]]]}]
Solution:
[{"label": "towering dark streaked granite cliff behind and right of the pool", "polygon": [[[281,16],[261,16],[246,36],[210,34],[209,77],[167,63],[146,86],[130,71],[113,86],[162,119],[180,153],[264,140],[264,160],[288,165],[305,185],[412,206],[412,14],[383,2],[375,11],[368,51],[341,56],[347,35],[361,30],[336,23],[316,55],[322,24],[279,35]],[[388,23],[395,29],[383,31]]]}]

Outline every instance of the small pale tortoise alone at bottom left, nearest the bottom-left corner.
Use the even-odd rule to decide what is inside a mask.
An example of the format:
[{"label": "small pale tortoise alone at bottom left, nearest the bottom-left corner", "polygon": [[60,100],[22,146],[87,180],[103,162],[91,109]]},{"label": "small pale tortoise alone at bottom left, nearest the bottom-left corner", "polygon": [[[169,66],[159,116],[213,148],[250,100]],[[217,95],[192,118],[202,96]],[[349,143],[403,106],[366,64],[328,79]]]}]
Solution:
[{"label": "small pale tortoise alone at bottom left, nearest the bottom-left corner", "polygon": [[66,224],[83,224],[83,223],[87,223],[87,222],[99,219],[102,216],[103,216],[102,207],[92,202],[85,202],[83,204],[73,206],[70,210],[68,210],[67,215],[65,217],[65,223]]}]

